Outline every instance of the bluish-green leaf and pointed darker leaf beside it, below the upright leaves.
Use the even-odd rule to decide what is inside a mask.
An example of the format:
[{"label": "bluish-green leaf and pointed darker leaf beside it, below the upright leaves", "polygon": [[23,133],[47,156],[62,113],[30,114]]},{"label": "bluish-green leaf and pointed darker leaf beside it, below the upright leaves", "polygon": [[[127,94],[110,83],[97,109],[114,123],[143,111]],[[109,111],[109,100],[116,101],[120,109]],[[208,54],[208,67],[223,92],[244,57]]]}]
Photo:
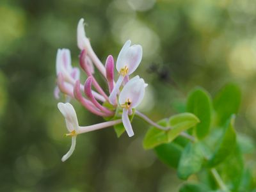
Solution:
[{"label": "bluish-green leaf and pointed darker leaf beside it, below the upright leaves", "polygon": [[[231,116],[222,130],[221,137],[216,141],[216,147],[209,159],[205,154],[203,142],[188,143],[180,156],[177,173],[180,179],[188,177],[201,170],[203,164],[206,168],[212,168],[225,161],[230,154],[233,154],[236,147],[236,132],[234,131],[234,116]],[[205,161],[205,163],[204,163]]]}]

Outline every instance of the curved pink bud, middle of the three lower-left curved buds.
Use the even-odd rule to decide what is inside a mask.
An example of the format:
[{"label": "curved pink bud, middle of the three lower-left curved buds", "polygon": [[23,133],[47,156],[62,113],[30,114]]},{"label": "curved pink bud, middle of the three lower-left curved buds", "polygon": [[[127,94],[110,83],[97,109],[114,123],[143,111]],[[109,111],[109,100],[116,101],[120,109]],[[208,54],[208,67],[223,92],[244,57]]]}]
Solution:
[{"label": "curved pink bud, middle of the three lower-left curved buds", "polygon": [[80,81],[77,80],[76,84],[74,86],[74,97],[81,102],[81,104],[84,106],[84,108],[88,109],[88,111],[90,111],[91,113],[94,113],[95,115],[99,115],[99,116],[110,116],[107,115],[106,113],[102,113],[101,111],[99,111],[97,108],[95,108],[95,106],[92,104],[92,102],[90,102],[89,100],[85,99],[83,97],[83,95],[80,92]]}]

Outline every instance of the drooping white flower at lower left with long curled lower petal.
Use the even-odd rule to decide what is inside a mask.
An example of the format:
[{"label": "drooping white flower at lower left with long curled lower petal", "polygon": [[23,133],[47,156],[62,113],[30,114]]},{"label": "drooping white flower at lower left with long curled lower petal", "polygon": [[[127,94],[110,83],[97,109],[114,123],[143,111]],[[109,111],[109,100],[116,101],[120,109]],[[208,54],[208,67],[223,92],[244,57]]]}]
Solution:
[{"label": "drooping white flower at lower left with long curled lower petal", "polygon": [[67,129],[69,131],[66,136],[71,136],[72,137],[72,143],[71,147],[68,150],[67,154],[65,154],[62,158],[61,161],[66,161],[68,157],[72,155],[76,148],[76,136],[79,133],[79,125],[77,121],[77,116],[76,116],[76,111],[73,108],[73,106],[70,103],[58,103],[58,109],[62,113],[62,115],[65,117]]}]

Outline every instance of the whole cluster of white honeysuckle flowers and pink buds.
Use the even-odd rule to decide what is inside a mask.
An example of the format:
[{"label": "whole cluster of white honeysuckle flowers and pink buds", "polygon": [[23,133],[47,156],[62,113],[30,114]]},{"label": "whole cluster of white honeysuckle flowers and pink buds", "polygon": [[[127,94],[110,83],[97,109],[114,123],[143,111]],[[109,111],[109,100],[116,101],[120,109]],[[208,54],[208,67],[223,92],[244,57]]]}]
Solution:
[{"label": "whole cluster of white honeysuckle flowers and pink buds", "polygon": [[[102,64],[93,51],[90,40],[86,37],[83,19],[80,19],[77,25],[77,46],[81,50],[79,65],[87,76],[84,84],[79,81],[79,68],[72,67],[68,49],[59,49],[56,58],[57,86],[54,95],[56,99],[60,99],[60,92],[67,96],[66,103],[58,103],[58,109],[65,117],[69,132],[66,135],[72,137],[70,150],[62,157],[62,161],[67,160],[74,152],[77,134],[122,123],[128,136],[133,136],[134,132],[129,116],[134,113],[132,109],[136,108],[143,100],[145,87],[147,86],[139,76],[129,78],[140,65],[142,58],[141,45],[131,45],[131,40],[125,42],[116,60],[116,70],[118,71],[116,82],[113,56],[108,56],[105,66]],[[108,93],[104,91],[93,76],[94,67],[106,79]],[[91,113],[104,118],[108,117],[110,120],[90,126],[79,126],[76,111],[69,103],[71,99],[76,99]]]}]

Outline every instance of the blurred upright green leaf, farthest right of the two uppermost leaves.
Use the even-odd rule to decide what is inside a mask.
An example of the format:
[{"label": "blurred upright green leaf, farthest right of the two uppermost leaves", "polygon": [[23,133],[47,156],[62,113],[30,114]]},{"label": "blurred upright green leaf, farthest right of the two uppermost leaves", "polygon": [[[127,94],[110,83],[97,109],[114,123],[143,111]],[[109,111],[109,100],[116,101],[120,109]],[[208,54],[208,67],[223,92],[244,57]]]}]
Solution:
[{"label": "blurred upright green leaf, farthest right of the two uppermost leaves", "polygon": [[241,90],[236,84],[227,84],[214,98],[213,106],[219,125],[225,124],[230,115],[236,114],[241,102]]}]

